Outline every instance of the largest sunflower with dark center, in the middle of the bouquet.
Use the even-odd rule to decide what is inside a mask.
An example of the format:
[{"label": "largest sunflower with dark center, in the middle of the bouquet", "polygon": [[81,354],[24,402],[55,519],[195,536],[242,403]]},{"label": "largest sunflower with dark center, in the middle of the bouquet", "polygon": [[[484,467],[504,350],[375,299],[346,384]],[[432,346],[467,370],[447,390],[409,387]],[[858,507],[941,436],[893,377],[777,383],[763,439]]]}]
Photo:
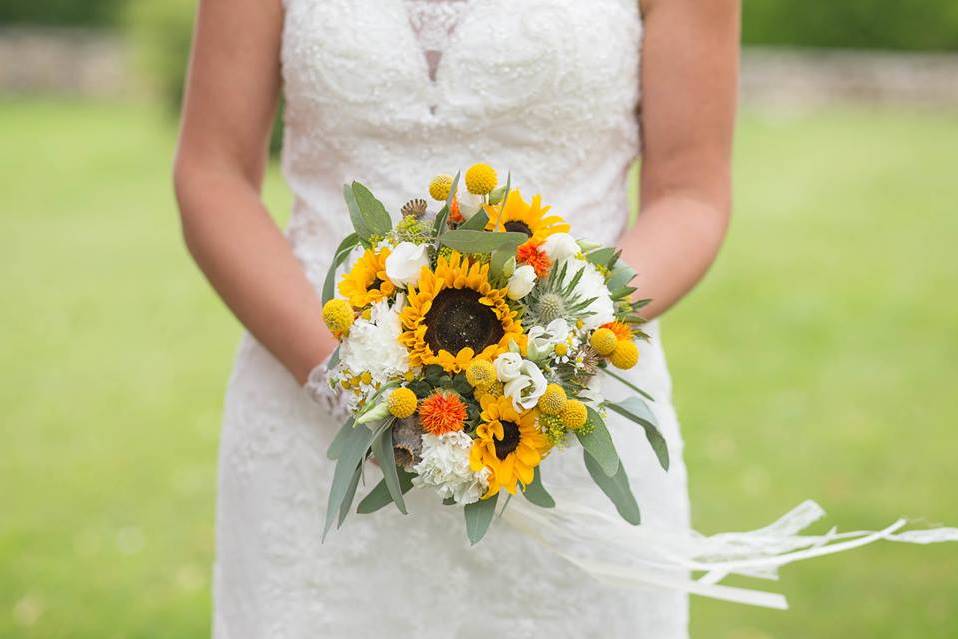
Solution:
[{"label": "largest sunflower with dark center, in the middle of the bouquet", "polygon": [[491,360],[522,344],[522,324],[509,308],[507,289],[489,283],[489,265],[459,253],[440,256],[435,270],[423,268],[402,311],[399,341],[411,366],[438,364],[450,373],[476,358]]}]

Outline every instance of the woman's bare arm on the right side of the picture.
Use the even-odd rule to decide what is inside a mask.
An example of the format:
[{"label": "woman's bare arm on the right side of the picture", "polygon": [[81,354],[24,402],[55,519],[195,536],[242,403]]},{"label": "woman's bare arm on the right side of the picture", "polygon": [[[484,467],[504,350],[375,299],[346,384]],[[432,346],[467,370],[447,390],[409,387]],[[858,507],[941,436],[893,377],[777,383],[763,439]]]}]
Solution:
[{"label": "woman's bare arm on the right side of the picture", "polygon": [[623,256],[649,319],[715,260],[731,206],[738,0],[644,0],[639,218]]}]

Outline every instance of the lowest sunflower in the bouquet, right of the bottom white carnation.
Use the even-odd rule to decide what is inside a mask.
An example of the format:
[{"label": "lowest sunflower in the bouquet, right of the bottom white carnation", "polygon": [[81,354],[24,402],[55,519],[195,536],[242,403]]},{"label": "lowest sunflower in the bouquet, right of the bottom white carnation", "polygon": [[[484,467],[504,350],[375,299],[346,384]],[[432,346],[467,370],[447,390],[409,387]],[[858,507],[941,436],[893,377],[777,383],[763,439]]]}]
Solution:
[{"label": "lowest sunflower in the bouquet, right of the bottom white carnation", "polygon": [[490,470],[489,490],[483,498],[500,489],[516,492],[516,482],[532,483],[535,468],[549,450],[549,440],[536,427],[537,410],[516,412],[508,397],[483,395],[482,413],[476,438],[469,452],[473,472]]}]

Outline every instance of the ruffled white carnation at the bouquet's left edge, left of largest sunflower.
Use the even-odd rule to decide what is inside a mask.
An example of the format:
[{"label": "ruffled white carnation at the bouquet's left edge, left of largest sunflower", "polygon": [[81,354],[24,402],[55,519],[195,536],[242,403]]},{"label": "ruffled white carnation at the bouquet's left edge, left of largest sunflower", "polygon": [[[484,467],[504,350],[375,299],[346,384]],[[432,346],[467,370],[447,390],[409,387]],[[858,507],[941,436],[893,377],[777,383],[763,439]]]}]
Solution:
[{"label": "ruffled white carnation at the bouquet's left edge, left of largest sunflower", "polygon": [[399,343],[403,298],[393,306],[388,300],[373,304],[369,319],[358,319],[339,350],[342,366],[354,375],[369,372],[374,382],[385,384],[409,370],[409,355]]}]

